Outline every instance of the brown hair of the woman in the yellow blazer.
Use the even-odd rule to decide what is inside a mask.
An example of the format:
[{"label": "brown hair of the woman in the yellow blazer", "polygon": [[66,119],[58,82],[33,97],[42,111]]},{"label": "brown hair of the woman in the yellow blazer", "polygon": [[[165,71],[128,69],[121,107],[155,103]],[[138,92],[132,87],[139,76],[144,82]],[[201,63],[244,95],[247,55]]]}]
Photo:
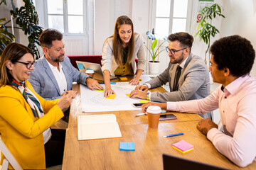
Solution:
[{"label": "brown hair of the woman in the yellow blazer", "polygon": [[6,62],[10,60],[12,63],[15,63],[27,53],[33,56],[33,52],[28,47],[17,42],[6,46],[0,59],[0,87],[10,85],[11,81],[14,79],[9,73],[9,69],[6,67]]}]

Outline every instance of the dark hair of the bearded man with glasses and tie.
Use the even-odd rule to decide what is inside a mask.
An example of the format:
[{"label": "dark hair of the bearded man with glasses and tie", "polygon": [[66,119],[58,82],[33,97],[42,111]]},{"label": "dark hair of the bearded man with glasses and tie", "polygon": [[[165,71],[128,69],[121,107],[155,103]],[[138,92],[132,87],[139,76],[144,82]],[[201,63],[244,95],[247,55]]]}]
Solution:
[{"label": "dark hair of the bearded man with glasses and tie", "polygon": [[174,33],[168,36],[168,40],[170,41],[178,40],[179,42],[181,42],[181,45],[183,47],[188,47],[189,50],[191,51],[191,47],[193,44],[193,36],[190,35],[189,33],[183,33],[183,32]]}]

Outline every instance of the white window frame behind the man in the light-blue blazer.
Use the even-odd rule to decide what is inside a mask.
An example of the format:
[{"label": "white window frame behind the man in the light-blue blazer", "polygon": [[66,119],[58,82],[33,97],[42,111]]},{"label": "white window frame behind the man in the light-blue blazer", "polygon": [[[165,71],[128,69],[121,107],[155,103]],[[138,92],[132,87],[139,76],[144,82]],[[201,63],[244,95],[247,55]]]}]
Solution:
[{"label": "white window frame behind the man in the light-blue blazer", "polygon": [[[54,0],[53,0],[54,1]],[[49,14],[48,13],[48,6],[47,6],[47,0],[43,1],[43,6],[44,6],[44,15],[45,15],[45,25],[46,28],[49,28],[49,24],[48,24],[48,16],[49,15],[53,15],[53,16],[63,16],[63,25],[64,25],[64,36],[85,36],[88,37],[88,29],[89,28],[89,24],[88,22],[88,4],[87,4],[87,0],[82,0],[82,6],[83,6],[83,14],[82,15],[68,15],[68,0],[62,0],[63,1],[63,14]],[[69,0],[72,1],[72,0]],[[68,33],[68,16],[83,16],[83,33]]]}]

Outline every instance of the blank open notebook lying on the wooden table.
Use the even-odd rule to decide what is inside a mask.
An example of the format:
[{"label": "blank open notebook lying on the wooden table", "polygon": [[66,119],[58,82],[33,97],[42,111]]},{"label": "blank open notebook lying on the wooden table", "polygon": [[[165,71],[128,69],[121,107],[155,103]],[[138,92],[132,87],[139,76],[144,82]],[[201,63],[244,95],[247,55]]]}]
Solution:
[{"label": "blank open notebook lying on the wooden table", "polygon": [[114,114],[78,115],[78,140],[122,137]]}]

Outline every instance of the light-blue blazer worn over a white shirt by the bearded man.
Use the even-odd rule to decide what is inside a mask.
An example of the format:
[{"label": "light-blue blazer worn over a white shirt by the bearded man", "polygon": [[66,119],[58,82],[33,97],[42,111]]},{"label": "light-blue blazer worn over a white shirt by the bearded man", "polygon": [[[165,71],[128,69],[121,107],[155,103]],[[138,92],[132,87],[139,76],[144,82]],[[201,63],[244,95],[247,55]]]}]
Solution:
[{"label": "light-blue blazer worn over a white shirt by the bearded man", "polygon": [[[67,56],[65,56],[61,65],[63,66],[63,72],[67,80],[68,90],[72,89],[73,81],[86,85],[86,79],[89,76],[75,69]],[[28,81],[31,83],[36,93],[46,100],[60,98],[58,82],[46,61],[46,57],[43,55],[33,66],[35,69],[31,72]]]}]

